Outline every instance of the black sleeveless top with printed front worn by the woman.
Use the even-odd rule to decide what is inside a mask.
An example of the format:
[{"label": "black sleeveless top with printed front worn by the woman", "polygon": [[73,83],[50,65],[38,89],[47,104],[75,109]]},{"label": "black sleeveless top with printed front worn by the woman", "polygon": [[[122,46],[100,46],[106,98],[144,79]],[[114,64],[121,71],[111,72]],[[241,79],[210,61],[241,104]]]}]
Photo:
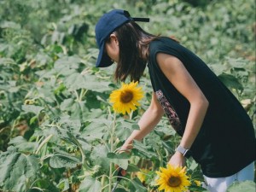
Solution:
[{"label": "black sleeveless top with printed front worn by the woman", "polygon": [[253,162],[256,143],[253,123],[236,96],[189,49],[171,38],[159,38],[149,45],[148,71],[154,92],[177,133],[183,136],[189,102],[160,70],[157,53],[174,55],[182,61],[209,102],[201,130],[190,148],[203,174],[228,177]]}]

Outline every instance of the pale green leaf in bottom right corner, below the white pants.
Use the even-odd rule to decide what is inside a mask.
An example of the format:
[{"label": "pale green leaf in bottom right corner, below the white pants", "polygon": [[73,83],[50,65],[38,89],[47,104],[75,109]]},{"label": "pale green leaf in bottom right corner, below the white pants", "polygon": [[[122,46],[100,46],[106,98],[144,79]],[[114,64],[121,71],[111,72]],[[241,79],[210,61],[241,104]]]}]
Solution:
[{"label": "pale green leaf in bottom right corner, below the white pants", "polygon": [[230,185],[227,192],[255,192],[256,184],[253,181],[236,182]]}]

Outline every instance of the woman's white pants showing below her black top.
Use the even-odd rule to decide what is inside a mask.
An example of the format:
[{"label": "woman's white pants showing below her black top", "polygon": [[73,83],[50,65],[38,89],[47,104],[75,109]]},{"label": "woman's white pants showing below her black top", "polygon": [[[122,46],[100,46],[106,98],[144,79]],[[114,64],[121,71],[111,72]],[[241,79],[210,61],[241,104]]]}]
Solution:
[{"label": "woman's white pants showing below her black top", "polygon": [[204,175],[205,187],[211,192],[225,192],[235,181],[246,181],[254,179],[254,162],[243,168],[240,172],[229,177],[211,178]]}]

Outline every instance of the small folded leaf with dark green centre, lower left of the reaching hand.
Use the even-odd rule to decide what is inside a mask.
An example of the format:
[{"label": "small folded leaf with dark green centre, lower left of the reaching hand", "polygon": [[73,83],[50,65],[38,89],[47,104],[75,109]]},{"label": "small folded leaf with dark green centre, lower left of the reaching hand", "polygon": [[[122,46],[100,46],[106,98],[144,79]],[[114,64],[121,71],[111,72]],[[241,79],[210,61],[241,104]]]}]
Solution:
[{"label": "small folded leaf with dark green centre, lower left of the reaching hand", "polygon": [[74,156],[67,156],[64,154],[54,154],[49,159],[49,166],[53,168],[74,168],[80,163],[81,161],[78,158]]}]

